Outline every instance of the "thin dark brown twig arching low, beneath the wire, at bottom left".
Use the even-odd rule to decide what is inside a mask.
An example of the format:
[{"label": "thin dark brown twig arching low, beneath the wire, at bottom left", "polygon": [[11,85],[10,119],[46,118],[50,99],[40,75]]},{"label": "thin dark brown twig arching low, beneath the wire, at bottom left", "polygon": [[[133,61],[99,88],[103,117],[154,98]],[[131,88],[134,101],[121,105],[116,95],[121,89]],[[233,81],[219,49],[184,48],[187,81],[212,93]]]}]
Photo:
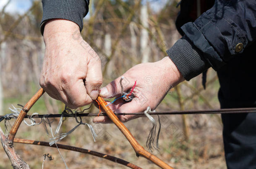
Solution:
[{"label": "thin dark brown twig arching low, beneath the wire, at bottom left", "polygon": [[[15,143],[22,143],[22,144],[34,144],[34,145],[39,145],[39,146],[48,146],[48,147],[55,147],[56,148],[55,144],[50,146],[49,142],[46,142],[46,141],[14,139],[14,142]],[[141,169],[141,167],[136,166],[135,164],[131,164],[128,161],[117,158],[115,156],[110,156],[110,155],[107,155],[107,154],[99,153],[97,151],[91,151],[91,150],[88,150],[88,149],[82,149],[82,148],[79,148],[79,147],[69,146],[69,145],[65,145],[65,144],[57,144],[57,147],[59,149],[71,150],[71,151],[76,151],[76,152],[80,152],[80,153],[84,153],[84,154],[90,154],[90,155],[93,155],[93,156],[98,156],[100,158],[107,159],[107,160],[113,161],[115,163],[122,164],[124,166],[128,166],[131,169]]]}]

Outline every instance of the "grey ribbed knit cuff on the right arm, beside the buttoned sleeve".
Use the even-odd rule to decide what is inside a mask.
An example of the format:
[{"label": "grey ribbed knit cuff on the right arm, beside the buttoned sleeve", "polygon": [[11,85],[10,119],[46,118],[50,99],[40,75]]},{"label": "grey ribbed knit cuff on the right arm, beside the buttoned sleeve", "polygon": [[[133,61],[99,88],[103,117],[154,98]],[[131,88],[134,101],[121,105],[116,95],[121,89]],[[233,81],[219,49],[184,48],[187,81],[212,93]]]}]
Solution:
[{"label": "grey ribbed knit cuff on the right arm, beside the buttoned sleeve", "polygon": [[203,53],[186,36],[166,52],[187,81],[210,67]]}]

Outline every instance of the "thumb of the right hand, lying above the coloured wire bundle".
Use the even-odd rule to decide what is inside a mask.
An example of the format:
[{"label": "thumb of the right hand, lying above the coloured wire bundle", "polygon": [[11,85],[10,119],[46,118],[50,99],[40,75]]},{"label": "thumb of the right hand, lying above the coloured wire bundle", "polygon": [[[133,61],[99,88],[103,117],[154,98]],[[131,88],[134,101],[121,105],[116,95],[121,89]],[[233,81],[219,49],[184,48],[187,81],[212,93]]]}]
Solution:
[{"label": "thumb of the right hand, lying above the coloured wire bundle", "polygon": [[[122,82],[120,83],[121,79],[122,79]],[[116,78],[114,81],[109,83],[104,88],[101,88],[99,96],[103,98],[112,98],[112,97],[118,96],[122,92],[122,86],[123,86],[123,91],[128,91],[130,88],[133,87],[133,80],[131,78],[120,76],[119,78]]]}]

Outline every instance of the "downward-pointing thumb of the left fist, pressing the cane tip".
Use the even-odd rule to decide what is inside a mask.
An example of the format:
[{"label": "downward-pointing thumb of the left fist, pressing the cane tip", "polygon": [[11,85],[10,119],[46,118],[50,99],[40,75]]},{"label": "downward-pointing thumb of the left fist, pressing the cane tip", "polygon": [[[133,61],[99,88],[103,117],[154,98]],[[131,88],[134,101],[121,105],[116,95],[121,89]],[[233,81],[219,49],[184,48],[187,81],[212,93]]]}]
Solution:
[{"label": "downward-pointing thumb of the left fist, pressing the cane tip", "polygon": [[100,59],[91,60],[88,63],[85,78],[85,87],[88,95],[95,100],[99,95],[99,88],[102,85],[102,70]]}]

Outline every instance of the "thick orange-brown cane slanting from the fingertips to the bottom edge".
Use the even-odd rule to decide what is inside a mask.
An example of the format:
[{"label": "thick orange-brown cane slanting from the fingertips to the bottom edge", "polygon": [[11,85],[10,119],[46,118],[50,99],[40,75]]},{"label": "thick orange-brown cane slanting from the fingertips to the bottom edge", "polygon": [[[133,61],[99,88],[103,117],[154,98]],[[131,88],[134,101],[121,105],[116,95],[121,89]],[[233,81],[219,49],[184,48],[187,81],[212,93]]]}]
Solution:
[{"label": "thick orange-brown cane slanting from the fingertips to the bottom edge", "polygon": [[131,132],[125,127],[125,125],[118,119],[118,117],[114,114],[114,112],[107,106],[107,103],[104,101],[103,98],[98,97],[97,101],[99,101],[101,108],[106,112],[107,116],[112,120],[112,122],[120,129],[120,131],[125,135],[126,139],[130,142],[131,146],[135,150],[137,156],[141,155],[146,159],[149,159],[154,164],[158,165],[162,169],[173,169],[171,166],[166,164],[161,159],[157,158],[153,154],[146,151],[133,137]]}]

